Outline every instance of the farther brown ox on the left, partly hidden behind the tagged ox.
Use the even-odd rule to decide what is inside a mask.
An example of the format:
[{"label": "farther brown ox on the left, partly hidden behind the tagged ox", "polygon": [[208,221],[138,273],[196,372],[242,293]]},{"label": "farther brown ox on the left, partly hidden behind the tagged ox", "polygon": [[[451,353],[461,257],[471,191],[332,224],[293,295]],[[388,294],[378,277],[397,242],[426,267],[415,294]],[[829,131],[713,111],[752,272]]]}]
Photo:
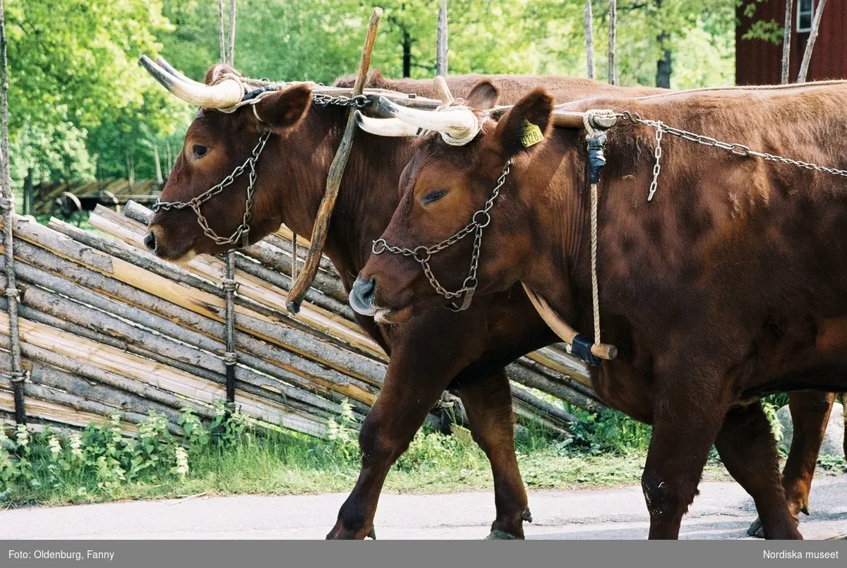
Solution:
[{"label": "farther brown ox on the left, partly hidden behind the tagged ox", "polygon": [[[210,69],[207,82],[226,70]],[[453,77],[448,83],[455,95],[468,97],[477,80],[476,76]],[[590,80],[567,78],[497,77],[495,81],[501,85],[501,99],[506,102],[517,101],[523,92],[541,83],[562,101],[598,92],[634,96],[656,91],[618,90]],[[340,85],[351,82],[339,81]],[[395,83],[376,74],[370,86],[435,97],[435,88],[429,81]],[[345,111],[310,106],[308,89],[292,87],[264,98],[257,113],[272,123],[275,134],[257,164],[251,238],[261,238],[280,222],[298,234],[311,234],[329,163],[345,124]],[[244,162],[262,128],[248,108],[232,114],[202,110],[185,136],[185,146],[162,198],[188,201],[217,184]],[[195,146],[203,146],[202,152],[195,152]],[[390,221],[399,199],[397,181],[413,150],[411,142],[401,139],[385,140],[363,132],[354,138],[326,248],[348,288],[352,275],[364,266],[371,242]],[[197,157],[197,153],[203,156]],[[203,207],[210,226],[218,234],[235,230],[244,213],[245,194],[246,186],[238,179]],[[224,248],[214,246],[202,234],[190,211],[159,212],[152,219],[148,242],[159,256],[171,259]],[[519,288],[513,293],[478,298],[462,317],[441,310],[417,320],[378,326],[372,317],[357,317],[391,358],[379,398],[360,434],[362,474],[329,537],[363,538],[370,532],[385,473],[406,449],[447,386],[452,386],[462,398],[473,436],[491,461],[496,505],[492,533],[520,537],[527,500],[514,455],[511,398],[503,367],[530,350],[556,341],[556,337]],[[428,362],[422,365],[420,361]],[[817,416],[815,423],[821,420],[821,412],[804,409],[801,415]],[[800,430],[795,428],[795,432]],[[814,466],[819,436],[801,439],[808,444],[796,455],[803,456],[802,463],[811,460]],[[794,478],[806,479],[799,471]]]}]

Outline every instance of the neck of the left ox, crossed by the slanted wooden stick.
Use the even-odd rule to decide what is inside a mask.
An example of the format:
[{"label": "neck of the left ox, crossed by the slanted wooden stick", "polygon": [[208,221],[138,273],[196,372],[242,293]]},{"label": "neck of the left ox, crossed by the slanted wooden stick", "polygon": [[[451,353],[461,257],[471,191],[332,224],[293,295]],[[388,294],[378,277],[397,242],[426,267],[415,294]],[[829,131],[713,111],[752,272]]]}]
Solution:
[{"label": "neck of the left ox, crossed by the slanted wooden stick", "polygon": [[[324,197],[329,166],[340,145],[346,109],[313,107],[287,136],[275,141],[282,168],[277,210],[283,223],[307,239]],[[411,159],[412,142],[369,135],[353,137],[324,251],[347,285],[352,284],[399,203],[397,183]]]}]

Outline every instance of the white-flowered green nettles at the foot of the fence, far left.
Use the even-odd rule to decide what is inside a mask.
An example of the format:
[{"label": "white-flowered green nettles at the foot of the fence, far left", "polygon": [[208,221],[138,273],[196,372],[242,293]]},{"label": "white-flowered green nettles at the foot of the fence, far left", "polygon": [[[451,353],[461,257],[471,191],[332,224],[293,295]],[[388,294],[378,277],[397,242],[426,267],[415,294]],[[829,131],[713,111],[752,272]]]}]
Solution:
[{"label": "white-flowered green nettles at the foot of the fence, far left", "polygon": [[84,498],[112,494],[131,483],[185,481],[191,460],[209,444],[238,444],[251,435],[240,411],[225,411],[223,402],[215,408],[208,423],[183,409],[181,435],[172,433],[168,419],[156,412],[131,437],[118,413],[81,431],[0,427],[0,502],[55,491]]}]

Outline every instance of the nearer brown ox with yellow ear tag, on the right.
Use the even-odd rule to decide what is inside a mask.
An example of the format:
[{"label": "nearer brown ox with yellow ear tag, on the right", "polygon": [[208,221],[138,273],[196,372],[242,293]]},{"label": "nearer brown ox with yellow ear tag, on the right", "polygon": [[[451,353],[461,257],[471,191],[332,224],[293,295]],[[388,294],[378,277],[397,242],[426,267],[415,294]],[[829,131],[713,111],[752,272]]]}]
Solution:
[{"label": "nearer brown ox with yellow ear tag, on the right", "polygon": [[[847,83],[597,98],[564,108],[630,111],[845,168],[845,106]],[[456,234],[484,207],[511,159],[484,229],[477,294],[514,290],[522,281],[587,331],[585,132],[551,129],[552,110],[552,97],[537,90],[499,122],[476,113],[483,132],[466,146],[428,135],[403,174],[384,238],[414,249]],[[532,124],[546,136],[529,145]],[[619,356],[594,372],[595,389],[653,425],[642,477],[650,538],[678,537],[712,444],[755,499],[765,536],[800,538],[759,398],[847,388],[847,179],[666,134],[658,192],[648,202],[654,135],[623,119],[608,132],[597,267],[602,339]],[[431,256],[446,290],[462,287],[472,241]],[[374,255],[359,278],[375,285],[375,306],[384,312],[444,312],[444,298],[407,256]]]}]

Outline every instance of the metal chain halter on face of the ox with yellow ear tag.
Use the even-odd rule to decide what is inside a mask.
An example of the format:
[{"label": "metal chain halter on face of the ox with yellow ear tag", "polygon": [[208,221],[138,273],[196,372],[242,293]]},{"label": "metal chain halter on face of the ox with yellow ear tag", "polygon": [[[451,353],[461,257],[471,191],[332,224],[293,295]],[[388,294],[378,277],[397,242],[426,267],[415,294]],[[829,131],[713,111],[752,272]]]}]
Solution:
[{"label": "metal chain halter on face of the ox with yellow ear tag", "polygon": [[[500,190],[503,184],[506,183],[506,178],[509,174],[509,171],[512,168],[512,160],[510,159],[506,163],[506,167],[503,168],[500,177],[497,178],[497,183],[494,187],[494,190],[491,191],[491,196],[488,198],[488,201],[485,201],[485,205],[479,211],[474,212],[471,216],[471,222],[465,225],[463,229],[460,229],[456,234],[453,234],[450,237],[447,237],[445,240],[442,240],[440,243],[432,246],[416,246],[414,249],[404,248],[400,246],[391,246],[385,239],[377,239],[374,240],[374,245],[371,246],[371,252],[374,255],[381,255],[385,251],[390,253],[401,255],[401,256],[412,256],[424,269],[424,275],[429,280],[429,284],[435,289],[435,291],[444,296],[447,300],[452,300],[454,298],[459,298],[462,295],[465,295],[465,300],[462,302],[462,306],[452,305],[451,309],[458,312],[462,310],[468,309],[470,306],[471,298],[473,298],[473,292],[476,291],[476,287],[479,284],[477,280],[477,269],[479,268],[479,251],[482,247],[482,234],[483,229],[491,223],[491,215],[490,210],[491,207],[494,207],[494,201],[497,199],[497,196],[500,195]],[[478,218],[479,217],[479,218]],[[464,279],[462,282],[462,288],[456,290],[455,292],[451,292],[446,290],[444,286],[440,284],[438,278],[435,278],[435,274],[432,273],[432,268],[429,266],[429,259],[436,252],[440,252],[450,247],[451,245],[455,245],[460,240],[464,239],[468,234],[474,233],[473,237],[473,252],[471,253],[471,264],[468,269],[468,278]]]}]

